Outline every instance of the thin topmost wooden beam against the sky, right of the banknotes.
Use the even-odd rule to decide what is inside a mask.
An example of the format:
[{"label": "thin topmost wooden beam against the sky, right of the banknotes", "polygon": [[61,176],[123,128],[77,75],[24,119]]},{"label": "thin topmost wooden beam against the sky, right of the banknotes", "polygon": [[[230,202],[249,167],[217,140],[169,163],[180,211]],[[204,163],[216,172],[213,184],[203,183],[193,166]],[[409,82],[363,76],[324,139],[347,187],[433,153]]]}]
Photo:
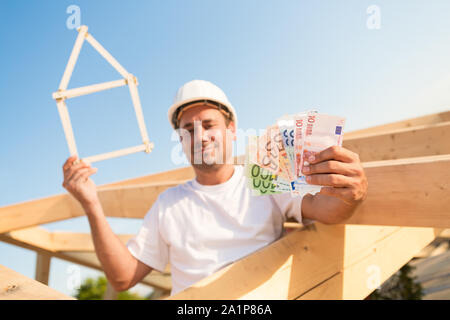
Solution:
[{"label": "thin topmost wooden beam against the sky, right of the banknotes", "polygon": [[374,126],[361,130],[354,130],[351,132],[345,133],[345,138],[356,138],[361,135],[366,134],[381,134],[387,131],[396,130],[396,129],[404,129],[409,127],[415,127],[420,125],[429,125],[435,124],[439,122],[450,121],[450,111],[444,111],[439,113],[433,113],[421,117],[416,117],[412,119],[406,119],[401,121],[396,121],[388,124],[382,124],[379,126]]}]

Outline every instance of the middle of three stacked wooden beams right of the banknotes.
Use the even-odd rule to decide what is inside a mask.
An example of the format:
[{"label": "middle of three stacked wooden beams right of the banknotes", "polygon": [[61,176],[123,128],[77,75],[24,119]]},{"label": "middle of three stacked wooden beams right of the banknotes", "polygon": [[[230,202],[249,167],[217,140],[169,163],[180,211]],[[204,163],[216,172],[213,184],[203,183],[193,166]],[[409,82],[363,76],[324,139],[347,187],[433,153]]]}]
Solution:
[{"label": "middle of three stacked wooden beams right of the banknotes", "polygon": [[450,154],[450,121],[345,138],[362,162]]}]

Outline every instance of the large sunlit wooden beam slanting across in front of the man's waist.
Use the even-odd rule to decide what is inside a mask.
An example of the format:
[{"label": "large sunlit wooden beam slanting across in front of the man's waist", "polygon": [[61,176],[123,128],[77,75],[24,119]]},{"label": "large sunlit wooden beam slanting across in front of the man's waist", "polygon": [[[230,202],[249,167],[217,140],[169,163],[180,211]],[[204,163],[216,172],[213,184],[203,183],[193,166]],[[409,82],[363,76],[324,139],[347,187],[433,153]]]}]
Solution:
[{"label": "large sunlit wooden beam slanting across in front of the man's waist", "polygon": [[170,299],[360,299],[374,289],[368,286],[368,266],[379,267],[383,281],[439,232],[314,225],[291,232]]}]

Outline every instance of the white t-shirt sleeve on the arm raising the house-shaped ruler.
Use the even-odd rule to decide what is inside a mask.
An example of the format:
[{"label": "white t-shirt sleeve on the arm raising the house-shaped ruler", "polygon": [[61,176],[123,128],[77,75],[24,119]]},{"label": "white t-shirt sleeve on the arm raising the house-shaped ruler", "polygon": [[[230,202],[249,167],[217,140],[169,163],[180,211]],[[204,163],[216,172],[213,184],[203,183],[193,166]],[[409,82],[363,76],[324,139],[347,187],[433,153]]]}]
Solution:
[{"label": "white t-shirt sleeve on the arm raising the house-shaped ruler", "polygon": [[161,237],[159,198],[145,215],[138,233],[127,242],[130,253],[139,261],[163,272],[169,260],[169,246]]}]

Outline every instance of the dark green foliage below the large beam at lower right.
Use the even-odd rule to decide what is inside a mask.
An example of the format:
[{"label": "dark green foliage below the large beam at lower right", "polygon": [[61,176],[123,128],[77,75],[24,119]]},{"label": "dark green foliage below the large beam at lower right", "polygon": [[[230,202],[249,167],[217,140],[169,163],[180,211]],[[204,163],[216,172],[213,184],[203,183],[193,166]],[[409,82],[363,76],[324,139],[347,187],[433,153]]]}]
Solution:
[{"label": "dark green foliage below the large beam at lower right", "polygon": [[414,267],[404,265],[391,278],[386,280],[380,289],[367,297],[369,300],[421,300],[423,290],[420,283],[415,282],[411,272]]}]

